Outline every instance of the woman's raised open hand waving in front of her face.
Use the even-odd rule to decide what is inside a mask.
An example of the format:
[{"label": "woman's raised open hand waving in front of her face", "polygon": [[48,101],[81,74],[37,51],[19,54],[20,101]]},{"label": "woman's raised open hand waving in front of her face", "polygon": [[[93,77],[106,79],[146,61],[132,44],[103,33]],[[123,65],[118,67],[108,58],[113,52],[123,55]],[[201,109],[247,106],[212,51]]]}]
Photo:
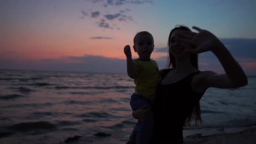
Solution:
[{"label": "woman's raised open hand waving in front of her face", "polygon": [[211,32],[192,27],[198,32],[182,31],[178,34],[178,40],[184,46],[184,52],[187,53],[203,53],[205,51],[217,51],[223,47],[221,41]]}]

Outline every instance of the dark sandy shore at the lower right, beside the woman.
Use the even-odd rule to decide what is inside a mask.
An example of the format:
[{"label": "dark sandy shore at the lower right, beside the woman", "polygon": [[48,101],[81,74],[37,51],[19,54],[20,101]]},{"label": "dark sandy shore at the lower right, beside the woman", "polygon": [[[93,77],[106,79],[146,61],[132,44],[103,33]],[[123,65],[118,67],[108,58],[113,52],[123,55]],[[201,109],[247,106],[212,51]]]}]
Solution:
[{"label": "dark sandy shore at the lower right, beside the woman", "polygon": [[[197,132],[197,131],[194,131],[194,132]],[[198,130],[198,132],[199,133],[194,133],[192,135],[184,136],[184,144],[255,144],[256,143],[256,126],[243,127],[243,128],[219,128],[219,129],[208,131],[206,133],[202,132],[202,130]]]}]

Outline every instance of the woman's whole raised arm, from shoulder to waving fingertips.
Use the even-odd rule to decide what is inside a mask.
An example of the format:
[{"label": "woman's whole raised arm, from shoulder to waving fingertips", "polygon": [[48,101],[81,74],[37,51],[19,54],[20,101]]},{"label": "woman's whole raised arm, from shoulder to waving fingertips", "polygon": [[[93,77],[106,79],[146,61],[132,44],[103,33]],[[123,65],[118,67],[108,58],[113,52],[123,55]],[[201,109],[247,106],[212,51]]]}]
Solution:
[{"label": "woman's whole raised arm, from shoulder to waving fingertips", "polygon": [[[187,44],[188,49],[185,51],[189,53],[212,51],[225,70],[225,74],[221,75],[212,71],[203,71],[196,75],[192,84],[194,83],[196,87],[199,88],[197,90],[204,92],[209,87],[239,88],[247,85],[248,80],[245,72],[223,43],[211,32],[198,27],[193,28],[199,33],[184,32],[184,35],[181,35],[182,38],[180,40],[182,40],[185,45]],[[194,45],[196,48],[189,47],[188,45]]]}]

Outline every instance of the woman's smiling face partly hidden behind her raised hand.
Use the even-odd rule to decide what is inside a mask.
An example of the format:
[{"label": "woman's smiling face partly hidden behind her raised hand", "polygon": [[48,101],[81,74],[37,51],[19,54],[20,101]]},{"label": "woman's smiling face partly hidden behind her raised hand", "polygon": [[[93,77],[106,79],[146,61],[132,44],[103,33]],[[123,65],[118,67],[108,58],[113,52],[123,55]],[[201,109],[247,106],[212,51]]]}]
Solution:
[{"label": "woman's smiling face partly hidden behind her raised hand", "polygon": [[180,58],[180,57],[187,57],[189,56],[188,53],[184,53],[184,47],[181,45],[181,42],[177,40],[178,34],[182,33],[183,30],[175,30],[171,34],[170,37],[170,45],[169,45],[169,50],[173,54],[175,58]]}]

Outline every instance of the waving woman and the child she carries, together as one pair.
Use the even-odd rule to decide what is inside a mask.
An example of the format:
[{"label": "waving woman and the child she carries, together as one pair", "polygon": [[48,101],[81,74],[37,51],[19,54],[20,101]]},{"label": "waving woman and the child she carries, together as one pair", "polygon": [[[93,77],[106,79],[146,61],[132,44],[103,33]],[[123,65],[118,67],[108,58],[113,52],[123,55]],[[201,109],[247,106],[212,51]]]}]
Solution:
[{"label": "waving woman and the child she carries, together as one pair", "polygon": [[[239,88],[247,85],[245,72],[221,41],[211,32],[176,26],[168,37],[168,66],[159,71],[150,59],[153,36],[139,32],[133,39],[138,59],[126,45],[128,76],[134,79],[132,115],[138,122],[127,144],[183,144],[182,130],[192,120],[201,123],[200,99],[208,88]],[[198,69],[198,54],[211,51],[225,74]]]}]

